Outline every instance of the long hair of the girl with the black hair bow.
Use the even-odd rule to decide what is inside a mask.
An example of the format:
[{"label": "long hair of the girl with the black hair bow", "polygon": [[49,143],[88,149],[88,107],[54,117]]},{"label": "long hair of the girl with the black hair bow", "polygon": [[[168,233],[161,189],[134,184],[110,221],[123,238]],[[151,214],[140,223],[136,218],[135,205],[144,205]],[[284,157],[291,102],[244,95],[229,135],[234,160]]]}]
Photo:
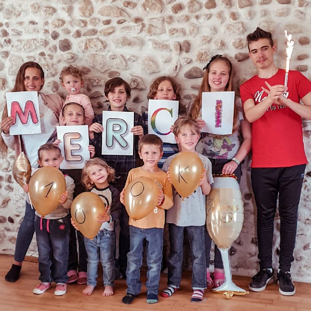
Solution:
[{"label": "long hair of the girl with the black hair bow", "polygon": [[[216,63],[216,62],[224,62],[225,64],[227,64],[228,69],[229,69],[229,80],[228,80],[227,85],[225,86],[225,91],[233,91],[233,67],[232,67],[232,64],[228,58],[221,56],[221,55],[216,55],[216,57],[214,59],[211,59],[211,61],[207,64],[206,70],[204,73],[204,77],[202,79],[202,83],[201,83],[201,86],[199,89],[199,94],[194,99],[194,101],[193,101],[193,103],[189,109],[188,115],[195,120],[198,118],[200,110],[202,108],[202,93],[211,91],[211,86],[208,83],[208,74],[210,72],[211,64]],[[239,110],[238,110],[238,107],[236,106],[236,104],[234,102],[232,133],[234,133],[239,127],[238,118],[239,118]]]}]

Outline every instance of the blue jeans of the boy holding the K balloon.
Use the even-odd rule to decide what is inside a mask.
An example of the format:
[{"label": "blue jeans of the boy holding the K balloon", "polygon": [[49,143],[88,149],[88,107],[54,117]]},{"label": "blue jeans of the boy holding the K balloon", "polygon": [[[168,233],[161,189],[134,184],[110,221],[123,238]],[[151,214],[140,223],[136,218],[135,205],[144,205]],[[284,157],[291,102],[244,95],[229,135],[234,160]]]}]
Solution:
[{"label": "blue jeans of the boy holding the K balloon", "polygon": [[190,252],[192,257],[192,288],[203,290],[206,288],[206,262],[205,262],[205,226],[180,227],[169,224],[169,267],[167,284],[179,288],[181,270],[183,266],[183,232],[187,231]]}]

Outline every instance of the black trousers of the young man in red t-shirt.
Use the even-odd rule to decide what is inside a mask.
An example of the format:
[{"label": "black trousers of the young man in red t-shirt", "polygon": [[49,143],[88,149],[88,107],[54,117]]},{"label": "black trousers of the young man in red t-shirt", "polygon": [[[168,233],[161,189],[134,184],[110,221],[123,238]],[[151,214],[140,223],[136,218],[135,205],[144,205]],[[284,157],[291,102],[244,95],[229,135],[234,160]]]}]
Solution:
[{"label": "black trousers of the young man in red t-shirt", "polygon": [[260,268],[272,268],[272,244],[276,202],[279,198],[279,268],[290,271],[294,261],[297,214],[306,165],[252,168],[251,181],[257,206],[258,258]]}]

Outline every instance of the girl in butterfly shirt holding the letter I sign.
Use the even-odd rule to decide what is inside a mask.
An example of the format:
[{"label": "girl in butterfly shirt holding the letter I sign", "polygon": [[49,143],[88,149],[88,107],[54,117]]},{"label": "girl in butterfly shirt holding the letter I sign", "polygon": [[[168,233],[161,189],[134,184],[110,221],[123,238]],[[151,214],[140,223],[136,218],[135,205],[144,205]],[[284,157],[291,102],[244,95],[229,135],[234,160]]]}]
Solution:
[{"label": "girl in butterfly shirt holding the letter I sign", "polygon": [[[189,110],[189,116],[197,120],[200,128],[205,126],[205,121],[201,118],[202,92],[233,91],[233,68],[228,58],[215,55],[204,69],[205,74],[199,94]],[[214,135],[203,132],[196,150],[211,160],[212,174],[235,174],[239,183],[242,174],[240,162],[250,151],[251,140],[251,125],[246,118],[244,119],[240,98],[236,98],[232,134]],[[210,252],[211,238],[206,231],[207,288],[219,287],[225,282],[221,255],[215,245],[214,280],[212,280],[209,272]]]}]

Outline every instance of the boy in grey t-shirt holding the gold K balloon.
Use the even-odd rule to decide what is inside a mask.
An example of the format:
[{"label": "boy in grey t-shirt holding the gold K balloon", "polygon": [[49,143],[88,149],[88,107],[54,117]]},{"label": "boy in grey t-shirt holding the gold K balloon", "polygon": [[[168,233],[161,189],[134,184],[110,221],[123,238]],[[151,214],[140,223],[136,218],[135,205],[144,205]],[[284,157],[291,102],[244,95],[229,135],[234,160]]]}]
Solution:
[{"label": "boy in grey t-shirt holding the gold K balloon", "polygon": [[[211,190],[213,177],[210,160],[195,150],[200,138],[200,128],[195,120],[179,117],[173,126],[176,142],[181,152],[196,153],[202,160],[204,173],[196,190],[187,198],[182,198],[173,187],[173,207],[167,211],[166,222],[169,224],[169,266],[168,287],[161,293],[162,297],[170,297],[180,286],[182,269],[183,233],[187,231],[192,255],[192,288],[191,301],[201,301],[206,288],[206,263],[204,249],[204,225],[206,217],[205,196]],[[168,172],[169,165],[175,154],[170,156],[163,165]],[[169,173],[168,173],[168,178]]]}]

